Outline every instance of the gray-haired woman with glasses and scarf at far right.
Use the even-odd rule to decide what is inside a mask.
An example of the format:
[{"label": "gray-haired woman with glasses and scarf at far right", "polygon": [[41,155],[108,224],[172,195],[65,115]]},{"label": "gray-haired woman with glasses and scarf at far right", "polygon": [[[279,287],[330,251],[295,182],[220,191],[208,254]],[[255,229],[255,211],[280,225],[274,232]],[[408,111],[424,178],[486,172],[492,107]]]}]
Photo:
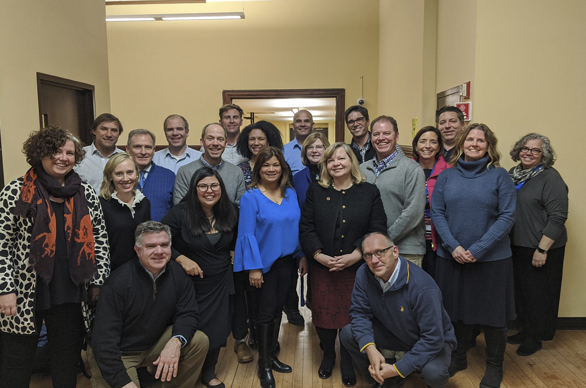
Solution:
[{"label": "gray-haired woman with glasses and scarf at far right", "polygon": [[517,189],[510,236],[520,331],[507,342],[520,344],[517,354],[529,356],[541,349],[541,341],[550,341],[556,333],[568,240],[568,186],[552,167],[556,154],[547,137],[524,135],[510,155],[519,161],[509,174]]}]

